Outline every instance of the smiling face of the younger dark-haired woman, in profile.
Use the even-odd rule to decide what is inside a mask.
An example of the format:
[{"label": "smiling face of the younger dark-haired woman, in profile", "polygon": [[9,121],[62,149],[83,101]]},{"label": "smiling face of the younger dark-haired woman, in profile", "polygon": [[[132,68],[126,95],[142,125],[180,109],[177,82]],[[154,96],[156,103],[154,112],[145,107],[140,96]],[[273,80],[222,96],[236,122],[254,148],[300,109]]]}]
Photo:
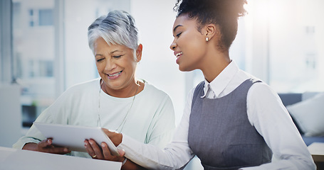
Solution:
[{"label": "smiling face of the younger dark-haired woman, in profile", "polygon": [[177,57],[180,71],[199,69],[199,64],[206,54],[206,37],[197,28],[197,20],[189,18],[187,14],[178,16],[174,21],[174,40],[170,48]]}]

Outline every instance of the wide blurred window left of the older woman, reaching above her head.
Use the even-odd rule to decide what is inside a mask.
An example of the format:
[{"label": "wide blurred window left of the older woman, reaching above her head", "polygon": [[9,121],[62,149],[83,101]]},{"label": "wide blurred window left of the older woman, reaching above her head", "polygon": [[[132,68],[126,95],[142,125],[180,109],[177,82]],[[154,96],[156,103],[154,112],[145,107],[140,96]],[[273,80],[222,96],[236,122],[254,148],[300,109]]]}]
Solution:
[{"label": "wide blurred window left of the older woman, reaching above her head", "polygon": [[88,25],[114,9],[130,11],[130,1],[12,2],[13,79],[21,85],[23,126],[29,127],[68,87],[98,77]]}]

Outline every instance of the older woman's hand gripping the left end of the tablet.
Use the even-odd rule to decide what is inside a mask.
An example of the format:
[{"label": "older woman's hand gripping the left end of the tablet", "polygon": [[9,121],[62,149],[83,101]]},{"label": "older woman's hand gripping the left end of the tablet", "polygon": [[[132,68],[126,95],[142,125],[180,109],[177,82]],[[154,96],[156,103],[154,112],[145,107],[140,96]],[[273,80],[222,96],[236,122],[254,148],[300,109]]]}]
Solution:
[{"label": "older woman's hand gripping the left end of the tablet", "polygon": [[68,154],[70,150],[66,147],[58,147],[52,144],[52,139],[48,138],[36,143],[27,143],[23,146],[23,149],[33,150],[38,152],[46,152],[51,154]]}]

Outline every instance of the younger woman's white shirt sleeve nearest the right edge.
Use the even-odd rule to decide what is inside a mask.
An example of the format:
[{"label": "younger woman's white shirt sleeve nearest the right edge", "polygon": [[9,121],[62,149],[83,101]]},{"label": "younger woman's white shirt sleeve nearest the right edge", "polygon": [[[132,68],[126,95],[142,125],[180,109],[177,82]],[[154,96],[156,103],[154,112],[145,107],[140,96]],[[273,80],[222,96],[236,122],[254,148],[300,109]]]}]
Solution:
[{"label": "younger woman's white shirt sleeve nearest the right edge", "polygon": [[252,169],[315,169],[313,159],[280,97],[264,83],[251,86],[247,96],[251,125],[273,152],[273,161]]}]

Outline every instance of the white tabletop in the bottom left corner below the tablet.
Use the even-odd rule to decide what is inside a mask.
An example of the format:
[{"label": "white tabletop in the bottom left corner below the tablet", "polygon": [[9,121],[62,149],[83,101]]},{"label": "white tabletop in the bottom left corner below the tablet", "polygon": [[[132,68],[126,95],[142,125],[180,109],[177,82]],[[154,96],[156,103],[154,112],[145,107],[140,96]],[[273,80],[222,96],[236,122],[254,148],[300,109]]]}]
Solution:
[{"label": "white tabletop in the bottom left corner below the tablet", "polygon": [[97,159],[70,157],[59,154],[47,154],[28,150],[0,147],[0,170],[33,169],[110,169],[120,170],[121,162],[109,162]]}]

